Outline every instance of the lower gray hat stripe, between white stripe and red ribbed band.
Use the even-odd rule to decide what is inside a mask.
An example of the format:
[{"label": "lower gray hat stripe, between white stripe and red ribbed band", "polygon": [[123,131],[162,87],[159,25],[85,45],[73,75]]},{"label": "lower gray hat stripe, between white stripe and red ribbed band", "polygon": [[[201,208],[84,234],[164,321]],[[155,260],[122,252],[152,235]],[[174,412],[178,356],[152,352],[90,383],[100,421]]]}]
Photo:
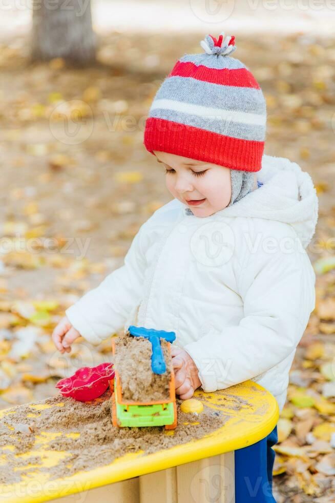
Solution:
[{"label": "lower gray hat stripe, between white stripe and red ribbed band", "polygon": [[[229,122],[220,119],[219,115],[216,115],[213,118],[211,118],[210,116],[202,118],[199,117],[199,115],[192,115],[190,113],[155,108],[153,110],[150,110],[149,117],[178,122],[187,126],[198,127],[206,131],[224,134],[225,136],[238,138],[240,140],[255,140],[259,142],[265,141],[265,126],[258,126],[255,124],[247,125],[240,122]],[[173,126],[171,127],[173,128]]]}]

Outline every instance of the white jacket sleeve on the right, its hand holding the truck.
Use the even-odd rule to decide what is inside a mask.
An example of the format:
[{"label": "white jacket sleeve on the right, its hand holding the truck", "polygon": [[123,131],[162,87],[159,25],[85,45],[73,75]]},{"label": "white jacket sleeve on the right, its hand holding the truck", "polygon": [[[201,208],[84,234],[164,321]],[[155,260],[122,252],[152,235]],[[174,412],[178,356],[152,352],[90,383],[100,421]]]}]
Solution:
[{"label": "white jacket sleeve on the right, its hand holding the truck", "polygon": [[[285,230],[269,251],[246,251],[238,276],[244,317],[237,326],[186,344],[206,392],[252,379],[294,351],[315,307],[315,273],[306,251],[286,253]],[[274,235],[274,234],[272,234]],[[296,238],[292,230],[291,238]]]}]

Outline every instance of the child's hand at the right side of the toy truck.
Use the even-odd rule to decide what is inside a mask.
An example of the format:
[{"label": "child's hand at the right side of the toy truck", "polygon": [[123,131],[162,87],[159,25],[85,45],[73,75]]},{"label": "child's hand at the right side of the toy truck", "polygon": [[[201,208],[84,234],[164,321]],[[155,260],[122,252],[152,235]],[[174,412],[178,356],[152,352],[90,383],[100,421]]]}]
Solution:
[{"label": "child's hand at the right side of the toy truck", "polygon": [[187,400],[201,386],[197,366],[189,353],[177,346],[171,346],[171,356],[175,371],[176,393],[182,400]]}]

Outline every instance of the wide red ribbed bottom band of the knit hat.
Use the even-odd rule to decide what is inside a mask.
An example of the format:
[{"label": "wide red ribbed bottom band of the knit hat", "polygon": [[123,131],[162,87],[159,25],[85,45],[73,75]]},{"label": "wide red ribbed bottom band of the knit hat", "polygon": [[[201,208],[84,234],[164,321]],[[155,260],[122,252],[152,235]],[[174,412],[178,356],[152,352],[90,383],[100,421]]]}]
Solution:
[{"label": "wide red ribbed bottom band of the knit hat", "polygon": [[174,153],[244,171],[259,171],[262,167],[264,142],[232,138],[156,117],[146,119],[143,143],[151,153]]}]

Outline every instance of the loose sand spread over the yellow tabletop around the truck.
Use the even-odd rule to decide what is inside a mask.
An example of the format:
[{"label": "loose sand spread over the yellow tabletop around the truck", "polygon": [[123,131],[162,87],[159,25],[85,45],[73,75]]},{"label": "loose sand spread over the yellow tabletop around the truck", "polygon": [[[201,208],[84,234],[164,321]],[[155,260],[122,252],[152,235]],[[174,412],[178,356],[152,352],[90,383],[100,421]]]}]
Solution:
[{"label": "loose sand spread over the yellow tabletop around the truck", "polygon": [[[108,465],[113,459],[129,452],[142,449],[152,453],[201,438],[221,427],[226,420],[220,412],[206,406],[199,416],[184,414],[180,411],[181,400],[177,399],[178,425],[173,435],[163,427],[114,428],[110,398],[111,392],[108,389],[100,398],[90,402],[78,402],[73,398],[57,395],[36,403],[57,405],[61,401],[64,403],[63,407],[56,406],[40,411],[36,411],[29,404],[15,407],[15,414],[9,414],[0,421],[0,448],[7,444],[15,446],[15,450],[6,454],[9,462],[5,467],[1,467],[0,483],[20,481],[20,473],[14,471],[14,467],[24,467],[29,462],[41,463],[39,456],[18,460],[14,455],[29,452],[35,436],[43,431],[61,432],[61,436],[50,440],[47,449],[65,450],[69,455],[54,467],[36,469],[27,466],[21,473],[47,471],[50,480],[53,480],[81,470]],[[38,414],[38,417],[27,418],[30,413]],[[25,431],[24,428],[17,427],[20,424],[30,425],[29,434],[20,433],[20,430]],[[8,427],[15,427],[16,431]],[[78,432],[80,435],[77,438],[67,437],[66,434],[71,432]],[[34,446],[34,449],[36,447]]]}]

